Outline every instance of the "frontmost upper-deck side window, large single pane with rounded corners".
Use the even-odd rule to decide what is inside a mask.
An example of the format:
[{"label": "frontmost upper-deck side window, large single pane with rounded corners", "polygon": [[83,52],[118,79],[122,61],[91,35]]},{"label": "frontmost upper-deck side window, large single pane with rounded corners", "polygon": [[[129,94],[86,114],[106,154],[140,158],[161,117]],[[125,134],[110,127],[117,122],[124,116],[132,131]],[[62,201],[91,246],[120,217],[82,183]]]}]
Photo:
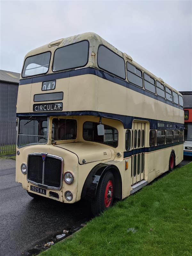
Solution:
[{"label": "frontmost upper-deck side window, large single pane with rounded corners", "polygon": [[99,46],[97,62],[99,68],[125,79],[124,59],[103,45]]}]

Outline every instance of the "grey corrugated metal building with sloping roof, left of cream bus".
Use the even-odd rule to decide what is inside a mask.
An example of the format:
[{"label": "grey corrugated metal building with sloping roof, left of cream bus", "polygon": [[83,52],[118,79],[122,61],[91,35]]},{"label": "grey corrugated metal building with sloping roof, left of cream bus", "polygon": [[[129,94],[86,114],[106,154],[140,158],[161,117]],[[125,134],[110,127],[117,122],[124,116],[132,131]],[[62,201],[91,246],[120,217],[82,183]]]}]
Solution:
[{"label": "grey corrugated metal building with sloping roof, left of cream bus", "polygon": [[0,70],[0,154],[15,151],[19,77],[19,73]]}]

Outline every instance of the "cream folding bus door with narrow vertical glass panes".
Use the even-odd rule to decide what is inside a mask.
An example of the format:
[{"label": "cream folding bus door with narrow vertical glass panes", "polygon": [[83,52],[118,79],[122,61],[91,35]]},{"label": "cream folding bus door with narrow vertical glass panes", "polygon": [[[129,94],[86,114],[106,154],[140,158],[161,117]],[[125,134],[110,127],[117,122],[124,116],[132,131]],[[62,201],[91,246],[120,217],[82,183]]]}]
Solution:
[{"label": "cream folding bus door with narrow vertical glass panes", "polygon": [[132,185],[144,179],[145,123],[133,122]]}]

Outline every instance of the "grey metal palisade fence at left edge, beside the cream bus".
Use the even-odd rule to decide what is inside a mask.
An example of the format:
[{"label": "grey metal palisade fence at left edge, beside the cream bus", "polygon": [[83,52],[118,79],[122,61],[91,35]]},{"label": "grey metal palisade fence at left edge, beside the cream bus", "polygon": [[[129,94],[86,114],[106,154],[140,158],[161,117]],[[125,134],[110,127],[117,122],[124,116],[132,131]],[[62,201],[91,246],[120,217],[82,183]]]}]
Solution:
[{"label": "grey metal palisade fence at left edge, beside the cream bus", "polygon": [[0,154],[15,154],[16,135],[16,121],[0,121]]}]

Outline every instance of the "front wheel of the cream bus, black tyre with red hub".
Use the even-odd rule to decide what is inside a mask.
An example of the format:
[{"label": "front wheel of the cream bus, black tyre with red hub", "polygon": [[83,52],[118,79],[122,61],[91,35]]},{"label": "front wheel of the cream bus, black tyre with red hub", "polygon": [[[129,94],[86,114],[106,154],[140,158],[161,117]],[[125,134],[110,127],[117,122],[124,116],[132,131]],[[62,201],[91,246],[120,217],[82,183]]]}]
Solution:
[{"label": "front wheel of the cream bus, black tyre with red hub", "polygon": [[107,210],[113,204],[114,198],[114,176],[112,172],[106,172],[100,181],[96,196],[91,203],[94,216]]}]

